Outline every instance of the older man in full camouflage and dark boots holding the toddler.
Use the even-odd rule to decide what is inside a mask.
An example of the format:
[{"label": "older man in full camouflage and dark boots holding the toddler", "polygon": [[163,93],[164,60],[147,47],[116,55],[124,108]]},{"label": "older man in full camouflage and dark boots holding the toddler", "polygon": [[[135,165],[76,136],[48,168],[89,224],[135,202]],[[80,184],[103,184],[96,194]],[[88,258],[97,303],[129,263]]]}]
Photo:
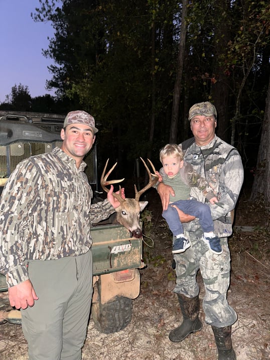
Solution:
[{"label": "older man in full camouflage and dark boots holding the toddler", "polygon": [[[210,102],[193,105],[189,110],[189,121],[193,139],[182,144],[185,151],[184,160],[190,163],[208,183],[213,186],[219,203],[210,204],[214,220],[215,233],[220,238],[222,254],[215,255],[201,241],[202,229],[198,219],[178,210],[184,230],[191,247],[184,254],[174,255],[176,263],[176,287],[183,322],[169,334],[171,341],[178,342],[190,333],[199,331],[202,323],[199,319],[199,286],[196,275],[200,269],[205,296],[203,310],[205,322],[210,324],[216,340],[219,360],[235,360],[236,354],[231,343],[231,325],[237,315],[227,301],[227,290],[230,283],[230,252],[227,237],[232,233],[231,211],[243,182],[243,166],[239,153],[231,145],[215,135],[216,108]],[[170,194],[174,191],[162,182],[158,185],[163,209],[167,209]],[[192,188],[191,196],[204,201],[202,193]]]}]

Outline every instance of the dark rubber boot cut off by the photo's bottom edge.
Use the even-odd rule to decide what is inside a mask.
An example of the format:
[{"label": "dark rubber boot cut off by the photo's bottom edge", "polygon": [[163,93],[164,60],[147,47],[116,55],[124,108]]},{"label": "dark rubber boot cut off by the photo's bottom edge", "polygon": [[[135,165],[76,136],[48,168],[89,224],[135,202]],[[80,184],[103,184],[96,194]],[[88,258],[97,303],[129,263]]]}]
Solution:
[{"label": "dark rubber boot cut off by the photo's bottom edge", "polygon": [[218,360],[236,360],[236,354],[231,343],[231,325],[225,327],[214,327],[212,330],[215,336]]}]

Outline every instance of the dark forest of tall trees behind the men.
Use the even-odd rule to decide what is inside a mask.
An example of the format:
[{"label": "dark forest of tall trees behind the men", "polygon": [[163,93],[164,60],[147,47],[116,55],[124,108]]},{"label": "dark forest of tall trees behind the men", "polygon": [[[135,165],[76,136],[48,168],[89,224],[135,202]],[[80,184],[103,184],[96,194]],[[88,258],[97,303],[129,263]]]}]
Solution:
[{"label": "dark forest of tall trees behind the men", "polygon": [[56,96],[32,98],[15,84],[1,110],[90,112],[100,169],[109,157],[127,177],[140,156],[159,169],[160,148],[192,136],[189,107],[211,101],[217,135],[252,180],[250,198],[269,205],[269,2],[40,0],[32,18],[54,28],[43,54]]}]

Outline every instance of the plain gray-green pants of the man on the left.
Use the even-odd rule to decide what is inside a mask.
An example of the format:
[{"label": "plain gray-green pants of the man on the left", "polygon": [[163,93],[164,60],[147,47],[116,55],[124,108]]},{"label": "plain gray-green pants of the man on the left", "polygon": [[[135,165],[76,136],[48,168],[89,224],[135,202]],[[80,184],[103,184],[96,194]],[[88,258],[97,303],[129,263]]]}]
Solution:
[{"label": "plain gray-green pants of the man on the left", "polygon": [[92,253],[59,260],[29,260],[39,299],[22,310],[30,360],[80,360],[92,298]]}]

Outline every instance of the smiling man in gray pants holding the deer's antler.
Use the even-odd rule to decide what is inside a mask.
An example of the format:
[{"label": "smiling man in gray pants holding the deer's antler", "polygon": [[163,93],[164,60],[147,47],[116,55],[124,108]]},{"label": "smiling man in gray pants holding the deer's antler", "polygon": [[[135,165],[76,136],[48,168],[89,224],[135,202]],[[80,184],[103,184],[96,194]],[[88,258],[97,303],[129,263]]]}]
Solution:
[{"label": "smiling man in gray pants holding the deer's antler", "polygon": [[97,131],[90,114],[69,112],[61,149],[22,161],[2,194],[0,271],[11,306],[21,309],[31,360],[81,359],[92,297],[90,223],[119,206],[113,187],[91,205],[83,158]]}]

